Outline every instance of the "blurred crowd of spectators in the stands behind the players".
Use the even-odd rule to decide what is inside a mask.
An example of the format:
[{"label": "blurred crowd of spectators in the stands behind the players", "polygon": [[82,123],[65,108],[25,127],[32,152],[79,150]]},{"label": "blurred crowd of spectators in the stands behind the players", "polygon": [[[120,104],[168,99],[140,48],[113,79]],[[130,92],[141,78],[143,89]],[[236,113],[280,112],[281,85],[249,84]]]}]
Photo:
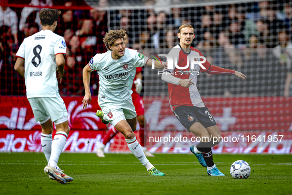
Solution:
[{"label": "blurred crowd of spectators in the stands behind the players", "polygon": [[[60,84],[61,95],[82,95],[82,69],[96,53],[103,53],[106,48],[102,42],[110,29],[123,28],[127,31],[127,47],[142,52],[142,49],[156,49],[158,53],[167,51],[179,43],[177,29],[182,23],[191,23],[195,27],[195,39],[192,47],[202,53],[214,65],[250,71],[254,81],[258,75],[270,69],[260,65],[245,66],[255,63],[268,55],[280,61],[277,69],[276,85],[286,85],[282,91],[265,95],[289,96],[292,66],[292,2],[289,0],[260,1],[252,3],[216,5],[181,8],[155,8],[156,1],[146,0],[147,9],[122,9],[105,11],[106,0],[100,0],[99,6],[84,10],[72,10],[71,1],[64,1],[64,9],[59,17],[55,33],[63,36],[67,44],[65,74]],[[31,5],[44,3],[32,0]],[[52,6],[53,1],[46,0],[42,6]],[[130,7],[130,6],[129,6]],[[40,8],[36,7],[0,7],[0,82],[1,95],[25,95],[24,81],[13,70],[15,54],[23,39],[42,29],[39,20]],[[291,48],[291,49],[290,49]],[[269,50],[271,49],[271,50]],[[224,57],[222,57],[224,56]],[[269,59],[269,58],[265,58]],[[251,63],[251,64],[252,64]],[[263,66],[257,71],[255,67]],[[266,69],[265,69],[266,68]],[[263,72],[260,72],[263,71]],[[271,69],[271,71],[275,71]],[[282,72],[283,71],[283,72]],[[90,87],[93,94],[98,93],[98,76],[92,73]],[[220,78],[220,77],[219,77]],[[288,80],[284,80],[287,78]],[[213,82],[211,76],[206,79]],[[290,79],[290,80],[289,80]],[[252,80],[253,81],[253,80]],[[230,81],[222,79],[222,86]],[[226,82],[226,83],[224,83]],[[290,82],[290,83],[289,83]],[[287,83],[287,84],[286,84]],[[252,87],[252,84],[250,84]],[[277,86],[275,86],[277,87]],[[231,86],[232,88],[232,86]],[[253,87],[257,89],[256,87]],[[279,88],[279,87],[278,87]],[[280,89],[280,88],[279,88]],[[287,92],[288,90],[288,92]],[[256,94],[246,91],[246,94]],[[270,91],[272,92],[272,91]],[[222,95],[221,93],[218,93]],[[210,95],[218,95],[210,94]],[[224,95],[228,92],[224,92]],[[207,94],[209,95],[209,94]]]}]

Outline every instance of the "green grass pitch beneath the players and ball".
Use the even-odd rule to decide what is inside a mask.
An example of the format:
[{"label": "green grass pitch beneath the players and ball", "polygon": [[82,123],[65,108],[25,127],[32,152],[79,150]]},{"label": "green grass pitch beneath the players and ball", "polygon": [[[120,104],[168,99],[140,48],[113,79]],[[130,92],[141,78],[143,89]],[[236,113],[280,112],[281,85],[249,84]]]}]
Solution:
[{"label": "green grass pitch beneath the players and ball", "polygon": [[[43,173],[43,153],[0,153],[0,195],[288,195],[292,188],[292,155],[215,154],[225,177],[207,175],[194,155],[156,154],[148,158],[166,176],[148,176],[132,154],[63,153],[59,167],[73,177],[67,185]],[[230,165],[250,164],[248,179],[233,179]]]}]

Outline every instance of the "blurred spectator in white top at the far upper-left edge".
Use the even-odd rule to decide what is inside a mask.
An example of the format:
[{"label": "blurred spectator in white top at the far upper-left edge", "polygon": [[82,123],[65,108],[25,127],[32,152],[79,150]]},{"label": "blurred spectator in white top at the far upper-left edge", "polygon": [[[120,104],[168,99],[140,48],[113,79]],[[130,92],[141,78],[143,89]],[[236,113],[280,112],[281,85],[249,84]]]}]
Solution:
[{"label": "blurred spectator in white top at the far upper-left edge", "polygon": [[17,38],[17,14],[12,11],[9,7],[0,6],[0,27],[9,26],[11,27],[11,34],[14,38],[14,43],[18,43]]}]

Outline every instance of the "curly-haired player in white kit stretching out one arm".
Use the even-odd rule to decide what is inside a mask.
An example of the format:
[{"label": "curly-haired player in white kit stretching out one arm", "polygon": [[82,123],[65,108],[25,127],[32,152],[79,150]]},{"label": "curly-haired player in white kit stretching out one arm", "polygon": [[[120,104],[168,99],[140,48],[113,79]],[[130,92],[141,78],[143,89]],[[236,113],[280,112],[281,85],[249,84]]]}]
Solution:
[{"label": "curly-haired player in white kit stretching out one arm", "polygon": [[[136,130],[137,114],[131,98],[131,87],[136,67],[152,66],[152,60],[136,50],[125,48],[125,30],[110,30],[103,42],[108,49],[91,58],[83,69],[85,96],[83,108],[91,101],[89,91],[90,72],[96,70],[99,75],[98,103],[102,111],[97,111],[103,122],[110,123],[124,136],[130,151],[147,168],[149,175],[164,176],[146,158],[133,131]],[[164,64],[155,62],[155,68],[163,69]]]}]

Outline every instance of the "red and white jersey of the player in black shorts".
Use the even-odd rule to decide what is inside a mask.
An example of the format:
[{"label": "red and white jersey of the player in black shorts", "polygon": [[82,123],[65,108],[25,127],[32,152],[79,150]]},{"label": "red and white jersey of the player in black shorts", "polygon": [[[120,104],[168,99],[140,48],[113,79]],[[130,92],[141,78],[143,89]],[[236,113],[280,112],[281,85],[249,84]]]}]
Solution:
[{"label": "red and white jersey of the player in black shorts", "polygon": [[[174,85],[171,83],[167,83],[168,86],[168,96],[169,103],[172,110],[174,110],[178,106],[197,106],[204,107],[205,104],[199,94],[197,88],[197,78],[200,72],[206,72],[210,63],[208,61],[202,63],[205,69],[203,69],[199,64],[194,64],[192,69],[191,67],[191,56],[198,56],[194,61],[203,61],[203,58],[199,59],[199,56],[204,56],[199,49],[195,49],[190,47],[190,51],[186,53],[183,49],[181,49],[180,45],[175,46],[168,53],[171,56],[177,56],[176,63],[179,67],[186,67],[185,69],[178,69],[173,64],[172,69],[164,69],[164,71],[171,73],[174,77],[180,79],[192,79],[192,82],[195,85],[191,85],[189,88],[182,87],[180,85]],[[189,59],[189,66],[187,66]]]}]

